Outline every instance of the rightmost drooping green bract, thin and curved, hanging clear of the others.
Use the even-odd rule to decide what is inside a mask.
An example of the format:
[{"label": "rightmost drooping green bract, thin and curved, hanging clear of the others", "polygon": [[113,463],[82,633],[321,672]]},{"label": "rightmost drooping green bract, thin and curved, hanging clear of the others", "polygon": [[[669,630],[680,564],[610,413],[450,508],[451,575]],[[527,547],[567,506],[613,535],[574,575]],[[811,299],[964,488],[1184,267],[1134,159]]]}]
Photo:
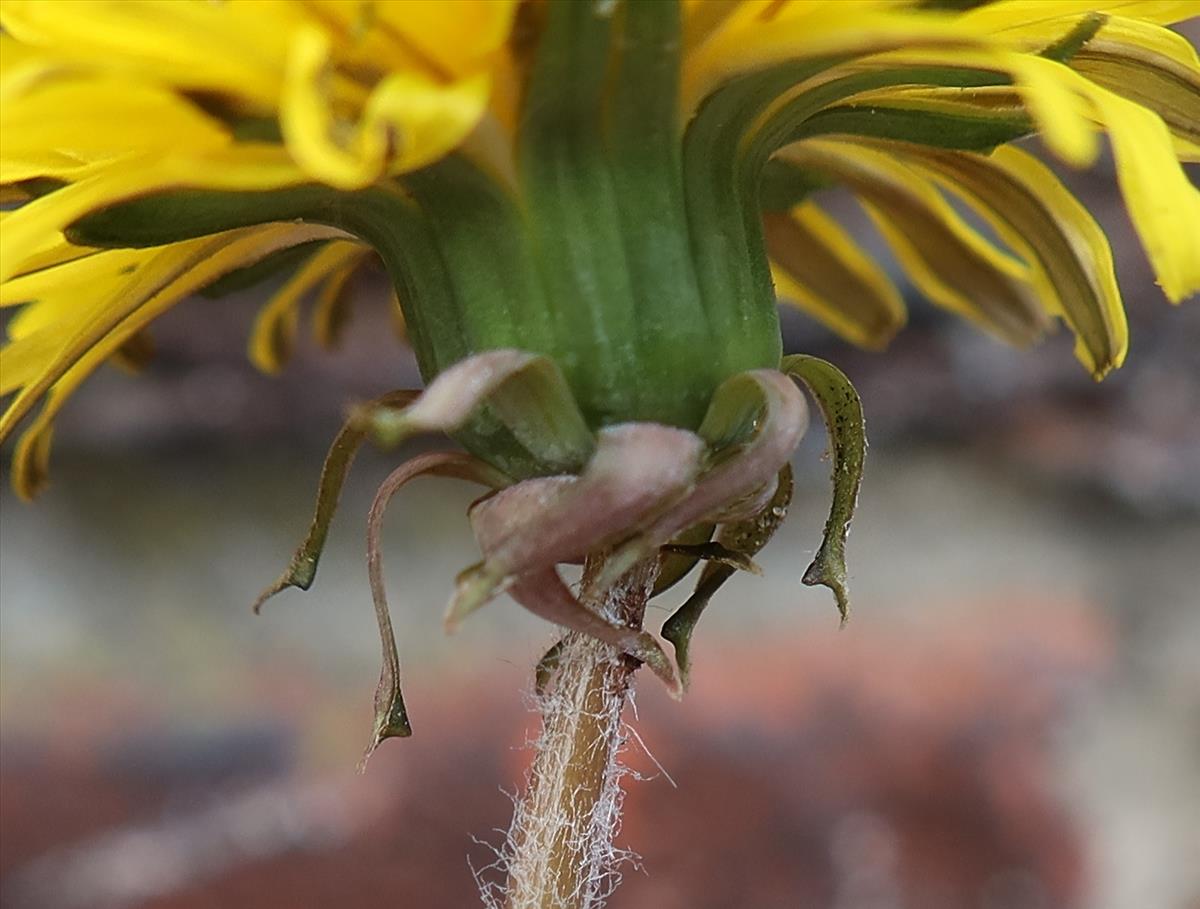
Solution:
[{"label": "rightmost drooping green bract, thin and curved, hanging clear of the others", "polygon": [[842,622],[850,614],[846,586],[846,536],[858,504],[866,459],[863,402],[838,367],[815,356],[785,356],[780,371],[802,381],[824,419],[833,459],[833,504],[816,558],[804,572],[804,583],[829,588],[838,601]]}]

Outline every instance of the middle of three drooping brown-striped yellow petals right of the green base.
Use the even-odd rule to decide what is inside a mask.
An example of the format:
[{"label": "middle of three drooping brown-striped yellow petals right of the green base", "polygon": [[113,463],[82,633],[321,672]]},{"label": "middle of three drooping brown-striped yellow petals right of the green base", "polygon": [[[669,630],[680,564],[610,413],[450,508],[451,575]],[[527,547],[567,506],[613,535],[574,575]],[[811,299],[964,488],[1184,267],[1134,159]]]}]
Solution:
[{"label": "middle of three drooping brown-striped yellow petals right of the green base", "polygon": [[980,236],[896,155],[835,139],[797,143],[784,155],[848,185],[929,300],[1013,344],[1042,333],[1046,318],[1028,267]]}]

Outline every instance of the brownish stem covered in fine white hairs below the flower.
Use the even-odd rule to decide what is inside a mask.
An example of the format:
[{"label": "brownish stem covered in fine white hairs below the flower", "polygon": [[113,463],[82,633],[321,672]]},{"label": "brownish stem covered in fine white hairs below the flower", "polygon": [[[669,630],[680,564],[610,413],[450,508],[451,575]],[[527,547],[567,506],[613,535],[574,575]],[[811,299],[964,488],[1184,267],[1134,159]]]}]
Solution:
[{"label": "brownish stem covered in fine white hairs below the flower", "polygon": [[[584,564],[584,584],[602,558]],[[641,627],[658,560],[638,565],[596,612]],[[622,710],[636,661],[583,634],[569,634],[542,732],[510,832],[506,909],[596,909],[604,902],[620,814]]]}]

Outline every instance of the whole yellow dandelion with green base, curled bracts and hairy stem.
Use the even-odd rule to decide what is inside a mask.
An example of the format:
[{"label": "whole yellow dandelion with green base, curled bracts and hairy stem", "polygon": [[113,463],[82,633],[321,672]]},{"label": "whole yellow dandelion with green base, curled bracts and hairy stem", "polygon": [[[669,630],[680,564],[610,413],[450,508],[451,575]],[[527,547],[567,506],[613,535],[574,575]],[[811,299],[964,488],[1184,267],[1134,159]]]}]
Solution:
[{"label": "whole yellow dandelion with green base, curled bracts and hairy stem", "polygon": [[[446,628],[506,592],[569,632],[539,668],[552,694],[510,898],[599,904],[623,693],[641,664],[686,687],[702,613],[757,570],[786,516],[806,399],[833,502],[802,580],[848,608],[863,410],[834,366],[784,355],[778,301],[884,348],[905,321],[902,271],[996,338],[1026,345],[1062,324],[1093,377],[1118,367],[1108,239],[1025,139],[1087,167],[1106,137],[1158,283],[1174,302],[1194,295],[1200,192],[1182,163],[1200,159],[1200,60],[1168,26],[1196,13],[1195,0],[0,0],[13,486],[44,487],[59,411],[103,365],[144,366],[172,306],[281,281],[248,345],[278,372],[308,299],[316,337],[336,344],[352,276],[382,261],[425,389],[353,410],[308,534],[256,609],[314,582],[362,444],[458,443],[401,464],[371,508],[384,664],[370,747],[412,733],[383,589],[388,504],[421,476],[476,483],[481,559],[455,580]],[[856,197],[894,269],[839,224],[830,186]],[[559,574],[572,564],[587,566],[580,590]],[[661,628],[672,658],[641,626],[646,595],[673,596],[701,564]]]}]

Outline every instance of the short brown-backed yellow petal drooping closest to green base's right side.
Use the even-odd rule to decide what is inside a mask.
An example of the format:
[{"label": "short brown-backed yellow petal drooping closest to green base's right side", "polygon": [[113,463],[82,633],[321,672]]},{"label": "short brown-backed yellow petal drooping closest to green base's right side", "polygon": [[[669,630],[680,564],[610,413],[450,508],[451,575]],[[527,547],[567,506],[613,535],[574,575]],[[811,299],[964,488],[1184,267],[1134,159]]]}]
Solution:
[{"label": "short brown-backed yellow petal drooping closest to green base's right side", "polygon": [[780,299],[851,343],[884,347],[905,323],[887,273],[815,203],[763,216]]}]

